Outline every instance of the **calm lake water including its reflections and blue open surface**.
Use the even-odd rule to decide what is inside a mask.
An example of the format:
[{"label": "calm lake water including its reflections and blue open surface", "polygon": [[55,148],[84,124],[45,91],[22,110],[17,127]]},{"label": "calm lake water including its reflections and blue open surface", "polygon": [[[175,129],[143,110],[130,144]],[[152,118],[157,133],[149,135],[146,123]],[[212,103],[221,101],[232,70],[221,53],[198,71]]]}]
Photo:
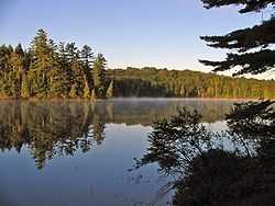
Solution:
[{"label": "calm lake water including its reflections and blue open surface", "polygon": [[220,130],[232,104],[176,99],[1,102],[0,205],[167,205],[172,194],[160,191],[168,180],[157,165],[128,171],[145,152],[152,122],[187,106]]}]

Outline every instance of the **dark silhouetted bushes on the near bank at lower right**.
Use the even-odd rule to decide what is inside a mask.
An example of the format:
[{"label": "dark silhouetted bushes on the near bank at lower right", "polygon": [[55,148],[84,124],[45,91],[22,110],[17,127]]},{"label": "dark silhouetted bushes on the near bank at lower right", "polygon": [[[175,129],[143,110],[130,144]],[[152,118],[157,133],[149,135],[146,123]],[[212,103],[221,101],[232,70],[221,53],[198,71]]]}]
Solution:
[{"label": "dark silhouetted bushes on the near bank at lower right", "polygon": [[[176,178],[175,205],[274,205],[274,102],[235,104],[228,129],[216,134],[200,124],[201,115],[186,108],[153,125],[150,147],[136,169],[157,162],[160,172]],[[237,147],[217,147],[224,136]]]}]

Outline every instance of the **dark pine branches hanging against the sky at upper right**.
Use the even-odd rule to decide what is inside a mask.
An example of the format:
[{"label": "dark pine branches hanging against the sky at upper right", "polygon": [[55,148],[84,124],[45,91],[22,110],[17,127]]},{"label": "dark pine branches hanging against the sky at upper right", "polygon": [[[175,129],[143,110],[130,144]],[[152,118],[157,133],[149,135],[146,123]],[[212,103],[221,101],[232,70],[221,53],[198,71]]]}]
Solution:
[{"label": "dark pine branches hanging against the sky at upper right", "polygon": [[[229,0],[202,0],[207,9],[231,4],[242,4],[244,8],[241,13],[262,11],[268,5],[274,5],[275,1],[252,0],[252,1],[229,1]],[[275,66],[274,50],[265,49],[275,43],[275,19],[272,15],[270,20],[253,27],[238,30],[223,36],[201,36],[201,39],[208,43],[208,46],[215,48],[238,49],[239,54],[228,54],[223,61],[200,60],[206,66],[215,67],[213,71],[224,71],[240,66],[241,69],[234,75],[262,73],[272,70]],[[258,50],[246,53],[250,49]]]}]

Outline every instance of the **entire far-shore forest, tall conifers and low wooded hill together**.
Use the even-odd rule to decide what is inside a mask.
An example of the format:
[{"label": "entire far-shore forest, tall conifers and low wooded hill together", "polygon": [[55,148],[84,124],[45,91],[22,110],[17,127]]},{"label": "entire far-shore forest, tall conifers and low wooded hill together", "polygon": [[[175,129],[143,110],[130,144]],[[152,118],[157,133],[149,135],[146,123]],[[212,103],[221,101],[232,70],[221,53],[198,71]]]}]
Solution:
[{"label": "entire far-shore forest, tall conifers and low wooded hill together", "polygon": [[118,96],[275,99],[274,80],[230,78],[152,67],[106,69],[102,54],[56,44],[38,30],[28,49],[0,46],[0,99]]}]

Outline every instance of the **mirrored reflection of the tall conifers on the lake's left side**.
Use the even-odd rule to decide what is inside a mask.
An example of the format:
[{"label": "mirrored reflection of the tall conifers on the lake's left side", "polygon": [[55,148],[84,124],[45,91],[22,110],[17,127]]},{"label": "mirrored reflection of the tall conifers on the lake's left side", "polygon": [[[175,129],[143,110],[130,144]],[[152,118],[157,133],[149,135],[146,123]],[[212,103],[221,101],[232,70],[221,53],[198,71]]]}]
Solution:
[{"label": "mirrored reflection of the tall conifers on the lake's left side", "polygon": [[9,102],[1,105],[0,148],[26,146],[37,169],[55,156],[87,152],[105,139],[105,119],[89,104],[36,104]]}]

